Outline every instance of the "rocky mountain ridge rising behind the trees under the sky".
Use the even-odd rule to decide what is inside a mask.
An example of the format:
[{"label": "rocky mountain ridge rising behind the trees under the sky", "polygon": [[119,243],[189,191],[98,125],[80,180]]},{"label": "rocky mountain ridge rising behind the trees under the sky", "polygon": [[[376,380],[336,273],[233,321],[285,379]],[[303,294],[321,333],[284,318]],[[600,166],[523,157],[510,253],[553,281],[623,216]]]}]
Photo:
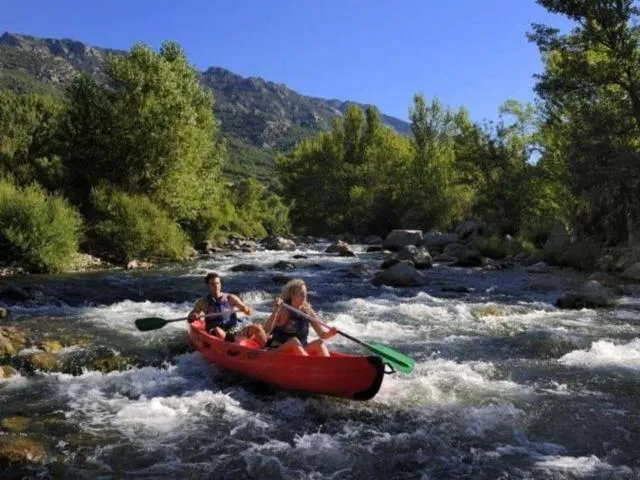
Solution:
[{"label": "rocky mountain ridge rising behind the trees under the sky", "polygon": [[[60,94],[81,72],[106,81],[107,56],[126,53],[73,39],[5,32],[0,36],[0,88]],[[277,153],[291,151],[302,138],[328,130],[350,105],[367,106],[303,95],[285,84],[242,77],[224,67],[198,71],[202,84],[214,95],[214,114],[228,139],[232,174],[253,171],[268,178]],[[408,122],[383,113],[381,117],[389,127],[409,133]]]}]

